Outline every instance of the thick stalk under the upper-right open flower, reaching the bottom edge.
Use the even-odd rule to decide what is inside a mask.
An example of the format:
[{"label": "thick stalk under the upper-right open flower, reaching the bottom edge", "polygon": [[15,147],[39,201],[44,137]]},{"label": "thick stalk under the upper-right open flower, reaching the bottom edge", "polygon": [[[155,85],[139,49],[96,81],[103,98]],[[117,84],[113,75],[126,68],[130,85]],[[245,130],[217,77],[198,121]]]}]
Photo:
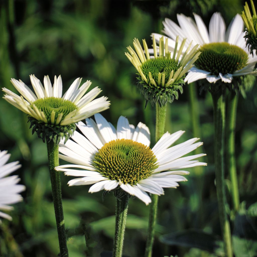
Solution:
[{"label": "thick stalk under the upper-right open flower, reaching the bottom edge", "polygon": [[227,257],[233,257],[230,223],[226,213],[224,139],[225,139],[225,96],[221,90],[212,93],[214,115],[214,161],[219,221]]}]

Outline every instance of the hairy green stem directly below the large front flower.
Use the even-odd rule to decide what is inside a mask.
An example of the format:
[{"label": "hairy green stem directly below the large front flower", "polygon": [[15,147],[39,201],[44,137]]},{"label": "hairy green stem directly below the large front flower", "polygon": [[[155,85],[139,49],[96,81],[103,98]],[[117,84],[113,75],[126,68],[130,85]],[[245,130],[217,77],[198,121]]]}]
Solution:
[{"label": "hairy green stem directly below the large front flower", "polygon": [[113,257],[121,257],[128,211],[129,195],[125,194],[122,198],[116,197],[116,219],[115,235],[113,239]]}]

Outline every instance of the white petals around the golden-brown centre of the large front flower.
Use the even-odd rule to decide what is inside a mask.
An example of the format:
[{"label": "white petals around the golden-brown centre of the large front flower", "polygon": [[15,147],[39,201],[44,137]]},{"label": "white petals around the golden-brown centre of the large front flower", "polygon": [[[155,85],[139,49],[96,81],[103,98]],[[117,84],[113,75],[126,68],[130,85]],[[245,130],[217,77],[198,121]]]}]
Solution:
[{"label": "white petals around the golden-brown centre of the large front flower", "polygon": [[[152,170],[146,177],[140,177],[134,182],[123,182],[128,180],[121,177],[115,179],[112,171],[108,171],[111,172],[108,175],[107,170],[103,172],[98,168],[99,166],[95,165],[96,160],[99,160],[97,159],[99,155],[95,157],[96,154],[110,140],[112,142],[120,142],[124,139],[131,140],[131,142],[141,143],[147,148],[150,145],[149,128],[141,122],[135,128],[123,116],[118,119],[117,130],[100,114],[95,114],[95,120],[96,122],[93,119],[87,119],[86,124],[79,122],[78,128],[84,135],[76,132],[65,144],[63,141],[60,143],[59,149],[62,153],[60,158],[74,164],[58,166],[55,168],[56,171],[62,171],[67,176],[79,177],[70,180],[69,186],[93,184],[89,188],[91,193],[100,190],[111,191],[119,187],[148,205],[151,202],[148,193],[162,195],[164,194],[163,188],[176,188],[179,186],[178,182],[187,181],[183,175],[188,175],[189,172],[181,170],[182,168],[207,165],[195,160],[205,156],[204,153],[183,157],[203,144],[196,142],[198,138],[192,138],[170,147],[184,131],[177,131],[173,134],[166,132],[150,150],[156,159],[154,159]],[[116,160],[118,162],[120,158]]]}]

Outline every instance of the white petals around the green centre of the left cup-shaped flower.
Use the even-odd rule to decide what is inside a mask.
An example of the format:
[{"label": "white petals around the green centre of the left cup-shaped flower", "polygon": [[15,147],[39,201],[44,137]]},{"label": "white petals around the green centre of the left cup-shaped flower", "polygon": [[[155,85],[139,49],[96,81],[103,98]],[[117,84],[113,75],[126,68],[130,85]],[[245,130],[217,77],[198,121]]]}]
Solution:
[{"label": "white petals around the green centre of the left cup-shaped flower", "polygon": [[[21,96],[14,94],[7,88],[3,88],[5,93],[3,98],[38,121],[65,126],[81,121],[95,113],[102,112],[109,108],[110,102],[107,101],[107,97],[103,96],[94,99],[101,92],[101,89],[98,87],[93,88],[83,96],[91,85],[89,80],[79,87],[82,79],[77,78],[63,96],[61,76],[58,78],[56,76],[54,77],[53,86],[49,76],[44,76],[44,86],[41,84],[40,80],[35,77],[35,75],[30,75],[30,80],[35,94],[21,80],[18,81],[16,79],[11,79],[12,84],[17,91],[19,91]],[[66,114],[66,116],[63,116],[63,118],[61,116],[59,118],[47,119],[44,114],[44,110],[39,110],[34,102],[38,99],[47,99],[49,97],[68,100],[76,106],[76,109]]]}]

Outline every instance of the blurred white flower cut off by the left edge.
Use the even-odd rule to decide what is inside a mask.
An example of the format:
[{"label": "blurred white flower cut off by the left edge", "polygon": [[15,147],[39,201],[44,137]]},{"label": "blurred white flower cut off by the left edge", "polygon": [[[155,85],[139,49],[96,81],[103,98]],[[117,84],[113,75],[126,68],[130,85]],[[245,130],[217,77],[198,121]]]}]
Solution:
[{"label": "blurred white flower cut off by the left edge", "polygon": [[[4,211],[13,209],[10,204],[22,201],[19,193],[25,190],[25,186],[17,185],[20,181],[17,175],[6,177],[21,167],[18,161],[6,164],[10,156],[7,151],[0,151],[0,210]],[[3,212],[0,212],[0,217],[12,220],[10,215]]]}]

